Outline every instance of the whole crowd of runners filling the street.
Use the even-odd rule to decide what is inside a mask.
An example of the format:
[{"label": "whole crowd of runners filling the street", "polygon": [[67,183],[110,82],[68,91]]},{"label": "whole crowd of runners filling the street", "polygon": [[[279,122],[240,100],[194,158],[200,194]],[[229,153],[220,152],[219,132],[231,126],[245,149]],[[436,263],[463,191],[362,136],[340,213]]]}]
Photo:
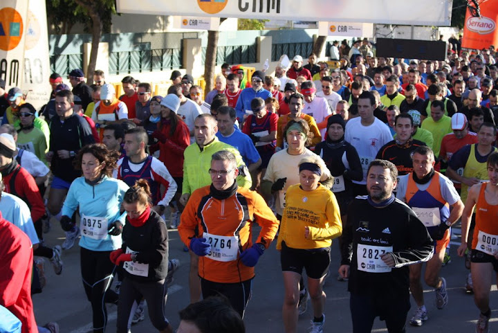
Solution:
[{"label": "whole crowd of runners filling the street", "polygon": [[[334,42],[319,62],[282,57],[275,72],[223,64],[205,96],[180,71],[165,96],[131,76],[116,96],[103,71],[89,86],[73,69],[71,87],[50,76],[42,109],[0,79],[0,332],[59,332],[36,322],[31,295],[46,285],[47,260],[64,275],[75,244],[94,333],[114,330],[106,303],[118,305],[116,332],[145,320],[145,306],[158,332],[174,332],[164,309],[180,264],[169,258],[175,229],[190,253],[191,303],[176,332],[245,332],[255,266],[275,248],[285,332],[297,332],[308,300],[310,332],[332,330],[326,278],[347,281],[353,332],[371,332],[376,317],[405,332],[429,318],[424,284],[438,309],[448,304],[441,267],[458,261],[455,224],[476,332],[488,332],[498,53],[454,38],[445,60],[374,52],[358,39]],[[44,242],[54,223],[62,244]]]}]

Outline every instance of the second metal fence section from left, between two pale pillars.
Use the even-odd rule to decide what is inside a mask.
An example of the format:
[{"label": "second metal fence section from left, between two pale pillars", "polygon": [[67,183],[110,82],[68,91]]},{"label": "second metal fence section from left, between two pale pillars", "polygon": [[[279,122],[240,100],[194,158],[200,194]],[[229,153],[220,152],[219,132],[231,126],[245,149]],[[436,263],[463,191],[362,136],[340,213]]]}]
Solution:
[{"label": "second metal fence section from left, between two pale pillars", "polygon": [[180,69],[181,66],[181,48],[109,53],[109,73],[111,75]]}]

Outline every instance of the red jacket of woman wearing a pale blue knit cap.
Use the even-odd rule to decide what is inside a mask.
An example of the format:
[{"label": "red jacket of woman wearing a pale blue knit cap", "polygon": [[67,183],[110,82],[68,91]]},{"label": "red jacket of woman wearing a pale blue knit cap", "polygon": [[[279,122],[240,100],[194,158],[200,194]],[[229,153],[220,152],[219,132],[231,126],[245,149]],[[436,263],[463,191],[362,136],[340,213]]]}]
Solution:
[{"label": "red jacket of woman wearing a pale blue knit cap", "polygon": [[183,177],[183,152],[190,145],[190,131],[183,122],[178,120],[176,131],[173,135],[169,133],[171,125],[160,125],[160,132],[167,136],[165,143],[159,142],[159,161],[166,165],[172,177]]}]

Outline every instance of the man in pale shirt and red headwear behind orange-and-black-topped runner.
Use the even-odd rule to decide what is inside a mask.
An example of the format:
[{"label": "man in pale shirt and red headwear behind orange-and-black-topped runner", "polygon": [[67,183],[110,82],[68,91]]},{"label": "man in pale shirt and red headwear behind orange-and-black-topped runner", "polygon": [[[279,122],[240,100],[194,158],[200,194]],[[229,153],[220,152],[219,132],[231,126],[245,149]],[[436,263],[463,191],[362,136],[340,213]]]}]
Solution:
[{"label": "man in pale shirt and red headwear behind orange-and-black-topped runner", "polygon": [[332,114],[329,103],[325,98],[316,96],[316,89],[313,81],[302,82],[301,93],[304,96],[302,113],[315,118],[322,138],[326,138],[326,118]]}]

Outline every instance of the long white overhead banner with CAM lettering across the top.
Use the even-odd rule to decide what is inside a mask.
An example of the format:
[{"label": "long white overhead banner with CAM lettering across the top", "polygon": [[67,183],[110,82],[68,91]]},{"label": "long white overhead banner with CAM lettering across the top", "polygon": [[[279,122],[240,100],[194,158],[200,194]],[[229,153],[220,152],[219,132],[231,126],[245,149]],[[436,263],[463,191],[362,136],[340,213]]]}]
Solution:
[{"label": "long white overhead banner with CAM lettering across the top", "polygon": [[130,14],[450,26],[452,0],[116,0]]}]

